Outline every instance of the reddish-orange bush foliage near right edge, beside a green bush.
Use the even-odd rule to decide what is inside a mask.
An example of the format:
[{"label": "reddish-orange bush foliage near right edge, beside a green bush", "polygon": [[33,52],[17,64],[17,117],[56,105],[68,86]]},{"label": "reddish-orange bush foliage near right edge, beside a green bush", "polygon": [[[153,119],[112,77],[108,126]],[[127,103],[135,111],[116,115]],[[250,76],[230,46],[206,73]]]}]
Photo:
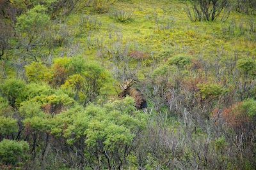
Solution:
[{"label": "reddish-orange bush foliage near right edge, beside a green bush", "polygon": [[241,127],[249,121],[242,104],[236,103],[230,106],[230,108],[223,110],[222,116],[230,127]]}]

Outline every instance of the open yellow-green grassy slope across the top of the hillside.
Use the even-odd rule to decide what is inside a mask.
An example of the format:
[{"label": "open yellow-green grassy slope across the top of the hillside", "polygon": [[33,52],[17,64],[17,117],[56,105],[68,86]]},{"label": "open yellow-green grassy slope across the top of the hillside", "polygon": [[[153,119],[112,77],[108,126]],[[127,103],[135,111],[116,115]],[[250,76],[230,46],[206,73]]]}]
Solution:
[{"label": "open yellow-green grassy slope across the top of the hillside", "polygon": [[[189,55],[191,57],[203,56],[209,60],[216,59],[218,53],[222,53],[223,60],[234,55],[239,57],[253,57],[256,55],[255,37],[241,34],[239,25],[244,26],[246,15],[231,13],[227,22],[191,22],[186,16],[185,5],[181,1],[159,0],[117,2],[109,10],[133,11],[131,22],[121,23],[109,17],[109,13],[93,13],[92,9],[83,10],[69,15],[67,24],[79,32],[76,26],[79,18],[84,14],[92,15],[102,23],[100,29],[86,31],[81,36],[76,36],[72,45],[79,44],[79,55],[89,60],[97,60],[108,69],[111,69],[109,59],[97,57],[99,48],[113,48],[117,41],[123,46],[129,43],[134,50],[140,50],[151,54],[148,60],[144,60],[143,66],[152,66],[152,58],[163,64],[173,55]],[[236,29],[233,33],[228,30],[230,23],[236,21]],[[170,29],[159,31],[158,27],[170,24]],[[89,33],[90,32],[90,33]],[[94,46],[88,49],[88,34]],[[99,41],[100,43],[96,43]],[[70,47],[68,47],[70,48]],[[68,48],[61,47],[55,50],[55,57],[67,52]],[[145,68],[144,68],[145,69]],[[112,89],[111,94],[115,94]]]}]

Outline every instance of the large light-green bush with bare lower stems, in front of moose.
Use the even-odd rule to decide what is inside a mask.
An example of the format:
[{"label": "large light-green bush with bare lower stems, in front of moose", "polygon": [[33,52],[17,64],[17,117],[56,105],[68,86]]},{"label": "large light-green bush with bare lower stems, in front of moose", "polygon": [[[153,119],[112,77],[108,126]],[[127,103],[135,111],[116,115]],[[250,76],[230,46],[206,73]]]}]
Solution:
[{"label": "large light-green bush with bare lower stems, in front of moose", "polygon": [[73,122],[68,124],[63,136],[69,145],[84,150],[91,167],[116,169],[127,165],[132,143],[147,122],[145,113],[136,111],[131,97],[104,106],[91,104],[82,111],[79,108],[70,111],[68,115],[73,115]]}]

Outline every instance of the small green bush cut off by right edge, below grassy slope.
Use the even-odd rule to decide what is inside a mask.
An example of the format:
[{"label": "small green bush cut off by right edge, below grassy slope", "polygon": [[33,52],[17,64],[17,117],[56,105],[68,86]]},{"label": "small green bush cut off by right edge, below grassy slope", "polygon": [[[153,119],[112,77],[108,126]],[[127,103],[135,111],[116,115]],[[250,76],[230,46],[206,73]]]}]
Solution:
[{"label": "small green bush cut off by right edge, below grassy slope", "polygon": [[255,75],[256,74],[256,61],[255,59],[240,59],[237,61],[238,69],[245,75]]}]

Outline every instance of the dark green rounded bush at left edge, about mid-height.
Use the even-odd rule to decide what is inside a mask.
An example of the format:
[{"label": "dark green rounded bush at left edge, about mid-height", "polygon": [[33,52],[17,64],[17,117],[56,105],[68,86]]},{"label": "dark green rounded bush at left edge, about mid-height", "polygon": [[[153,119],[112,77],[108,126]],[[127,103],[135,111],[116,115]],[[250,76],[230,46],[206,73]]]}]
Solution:
[{"label": "dark green rounded bush at left edge, about mid-height", "polygon": [[8,99],[10,105],[14,108],[15,104],[19,104],[24,100],[26,84],[22,80],[8,79],[0,85],[0,92],[3,97]]}]

